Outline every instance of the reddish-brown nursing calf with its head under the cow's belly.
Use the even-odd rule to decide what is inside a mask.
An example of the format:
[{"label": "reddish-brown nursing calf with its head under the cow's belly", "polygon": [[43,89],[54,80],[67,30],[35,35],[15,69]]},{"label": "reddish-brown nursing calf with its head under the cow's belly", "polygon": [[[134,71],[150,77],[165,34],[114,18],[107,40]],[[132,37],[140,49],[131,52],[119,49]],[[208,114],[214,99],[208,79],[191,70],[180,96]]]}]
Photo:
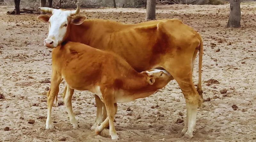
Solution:
[{"label": "reddish-brown nursing calf with its head under the cow's belly", "polygon": [[172,76],[166,71],[156,69],[139,73],[112,52],[77,42],[62,43],[52,50],[52,78],[51,88],[47,93],[46,129],[53,128],[52,105],[63,79],[67,83],[63,98],[73,127],[78,126],[71,104],[74,89],[88,90],[100,98],[107,110],[108,117],[96,128],[96,133],[106,128],[109,122],[109,134],[112,139],[116,139],[118,136],[114,127],[114,103],[147,97],[164,87]]}]

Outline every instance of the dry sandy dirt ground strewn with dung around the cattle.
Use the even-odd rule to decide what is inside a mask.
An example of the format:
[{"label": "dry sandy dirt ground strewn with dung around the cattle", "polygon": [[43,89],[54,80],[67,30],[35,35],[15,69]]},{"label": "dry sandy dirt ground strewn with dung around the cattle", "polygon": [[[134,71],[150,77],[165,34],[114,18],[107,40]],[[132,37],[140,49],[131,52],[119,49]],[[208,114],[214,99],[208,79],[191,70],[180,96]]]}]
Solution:
[{"label": "dry sandy dirt ground strewn with dung around the cattle", "polygon": [[[0,93],[5,96],[0,99],[0,142],[112,141],[108,129],[96,136],[90,131],[96,107],[94,95],[88,91],[75,91],[73,96],[73,110],[80,128],[73,129],[63,99],[58,95],[59,105],[52,111],[55,129],[45,130],[50,83],[44,80],[51,78],[51,49],[43,46],[43,40],[48,25],[39,22],[35,14],[5,14],[11,10],[12,6],[0,7]],[[198,109],[196,132],[191,141],[256,141],[256,5],[242,4],[241,10],[242,28],[226,29],[227,4],[157,6],[157,19],[178,18],[194,27],[204,39],[202,86],[204,99],[209,97],[210,101]],[[86,9],[80,15],[124,23],[145,21],[145,9]],[[231,45],[227,45],[229,42]],[[197,69],[198,58],[195,84]],[[207,84],[211,78],[220,84]],[[64,85],[63,81],[60,93]],[[222,94],[223,89],[228,89],[227,93]],[[175,80],[147,98],[119,103],[118,107],[115,127],[120,142],[188,141],[181,135],[186,118],[185,100]],[[28,123],[30,119],[35,123]],[[4,131],[5,127],[10,130]]]}]

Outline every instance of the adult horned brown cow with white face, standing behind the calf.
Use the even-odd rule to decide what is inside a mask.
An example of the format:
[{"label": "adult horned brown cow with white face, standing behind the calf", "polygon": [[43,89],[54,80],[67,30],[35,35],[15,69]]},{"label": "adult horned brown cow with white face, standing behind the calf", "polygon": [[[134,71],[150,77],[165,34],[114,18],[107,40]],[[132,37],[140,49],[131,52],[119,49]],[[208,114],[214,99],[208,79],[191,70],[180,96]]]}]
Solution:
[{"label": "adult horned brown cow with white face, standing behind the calf", "polygon": [[[75,11],[48,7],[39,9],[52,13],[51,17],[37,17],[42,22],[49,23],[49,34],[44,40],[47,47],[56,48],[63,41],[80,42],[97,49],[115,52],[138,72],[152,68],[164,68],[168,71],[178,82],[186,100],[187,119],[182,132],[187,138],[193,137],[197,107],[201,107],[203,102],[203,42],[200,34],[193,28],[178,19],[124,24],[110,20],[86,19],[85,16],[72,18],[71,16],[79,13],[79,5]],[[199,81],[196,89],[192,72],[198,51]],[[50,111],[48,109],[48,114]],[[46,123],[52,123],[48,117]]]}]

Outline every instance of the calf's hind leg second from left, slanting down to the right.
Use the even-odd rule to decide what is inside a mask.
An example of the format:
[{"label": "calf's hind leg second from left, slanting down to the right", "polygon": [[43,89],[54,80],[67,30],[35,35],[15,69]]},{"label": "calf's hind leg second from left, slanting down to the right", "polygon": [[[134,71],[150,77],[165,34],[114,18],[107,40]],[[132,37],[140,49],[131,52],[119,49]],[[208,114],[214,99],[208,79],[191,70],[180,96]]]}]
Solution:
[{"label": "calf's hind leg second from left, slanting down to the right", "polygon": [[66,108],[68,111],[68,116],[70,123],[73,125],[73,128],[78,128],[78,124],[76,122],[76,118],[72,109],[72,96],[74,94],[74,89],[69,88],[68,85],[66,85],[64,93],[62,95],[64,102],[66,104]]}]

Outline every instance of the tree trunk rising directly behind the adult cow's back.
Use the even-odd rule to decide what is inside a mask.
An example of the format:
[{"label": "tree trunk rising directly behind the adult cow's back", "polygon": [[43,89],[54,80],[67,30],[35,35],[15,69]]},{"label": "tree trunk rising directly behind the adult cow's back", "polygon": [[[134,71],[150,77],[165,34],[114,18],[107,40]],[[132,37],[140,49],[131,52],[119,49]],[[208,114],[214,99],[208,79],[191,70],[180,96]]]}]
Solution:
[{"label": "tree trunk rising directly behind the adult cow's back", "polygon": [[147,12],[145,20],[156,19],[156,0],[147,0]]}]

